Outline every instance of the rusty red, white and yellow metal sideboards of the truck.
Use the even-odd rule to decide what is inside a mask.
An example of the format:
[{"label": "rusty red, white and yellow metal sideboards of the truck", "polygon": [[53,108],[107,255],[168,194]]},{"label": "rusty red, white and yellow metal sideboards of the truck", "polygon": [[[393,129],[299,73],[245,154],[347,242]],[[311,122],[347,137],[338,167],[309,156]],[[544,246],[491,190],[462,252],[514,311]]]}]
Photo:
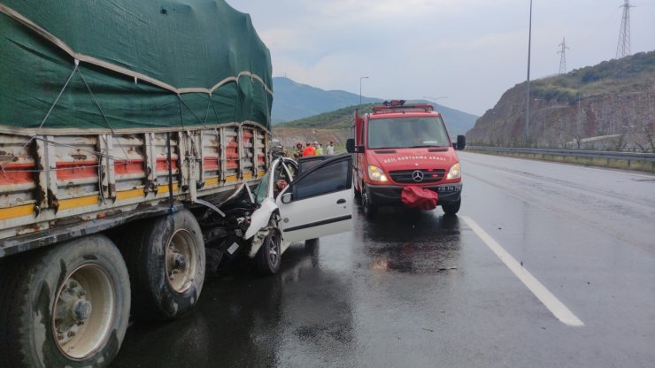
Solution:
[{"label": "rusty red, white and yellow metal sideboards of the truck", "polygon": [[268,167],[258,126],[170,132],[170,162],[166,135],[0,134],[0,255],[13,236],[168,203],[169,165],[180,202],[224,196]]}]

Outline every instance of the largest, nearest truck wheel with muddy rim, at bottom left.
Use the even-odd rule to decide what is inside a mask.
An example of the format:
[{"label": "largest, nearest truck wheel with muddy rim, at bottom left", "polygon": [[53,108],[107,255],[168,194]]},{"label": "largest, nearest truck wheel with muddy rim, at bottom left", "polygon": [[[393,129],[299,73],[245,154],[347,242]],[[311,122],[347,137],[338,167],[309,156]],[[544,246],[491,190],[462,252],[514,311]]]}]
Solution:
[{"label": "largest, nearest truck wheel with muddy rim, at bottom left", "polygon": [[129,321],[119,249],[91,235],[0,265],[0,357],[7,367],[105,367]]}]

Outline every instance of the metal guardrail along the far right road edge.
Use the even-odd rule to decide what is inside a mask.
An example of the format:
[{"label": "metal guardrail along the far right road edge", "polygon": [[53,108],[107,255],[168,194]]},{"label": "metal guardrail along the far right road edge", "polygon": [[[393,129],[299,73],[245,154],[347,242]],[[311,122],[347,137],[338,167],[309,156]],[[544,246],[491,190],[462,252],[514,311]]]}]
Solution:
[{"label": "metal guardrail along the far right road edge", "polygon": [[485,147],[485,146],[466,146],[466,149],[493,151],[493,152],[502,152],[502,153],[518,153],[518,154],[522,153],[522,154],[532,154],[532,155],[607,158],[607,159],[615,159],[615,160],[655,162],[655,153],[613,152],[613,151],[584,150],[584,149],[528,149],[528,148]]}]

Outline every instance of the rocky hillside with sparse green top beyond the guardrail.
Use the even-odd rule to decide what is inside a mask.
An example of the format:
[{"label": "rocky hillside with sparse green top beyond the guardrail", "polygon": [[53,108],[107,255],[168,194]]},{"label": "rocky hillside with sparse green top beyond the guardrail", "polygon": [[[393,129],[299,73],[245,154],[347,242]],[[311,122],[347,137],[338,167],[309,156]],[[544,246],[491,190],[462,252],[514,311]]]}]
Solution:
[{"label": "rocky hillside with sparse green top beyond the guardrail", "polygon": [[[653,149],[655,51],[535,80],[530,89],[529,145]],[[507,90],[466,140],[524,144],[526,95],[525,82]]]}]

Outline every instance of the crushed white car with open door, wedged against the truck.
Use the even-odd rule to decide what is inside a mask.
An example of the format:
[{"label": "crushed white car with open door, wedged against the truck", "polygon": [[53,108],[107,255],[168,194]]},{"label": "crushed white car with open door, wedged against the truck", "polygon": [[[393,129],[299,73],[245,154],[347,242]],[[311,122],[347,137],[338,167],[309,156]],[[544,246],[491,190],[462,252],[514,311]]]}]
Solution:
[{"label": "crushed white car with open door, wedged against the truck", "polygon": [[221,255],[245,250],[259,272],[278,272],[292,243],[352,229],[351,164],[350,154],[275,158],[256,188],[207,211],[205,245]]}]

